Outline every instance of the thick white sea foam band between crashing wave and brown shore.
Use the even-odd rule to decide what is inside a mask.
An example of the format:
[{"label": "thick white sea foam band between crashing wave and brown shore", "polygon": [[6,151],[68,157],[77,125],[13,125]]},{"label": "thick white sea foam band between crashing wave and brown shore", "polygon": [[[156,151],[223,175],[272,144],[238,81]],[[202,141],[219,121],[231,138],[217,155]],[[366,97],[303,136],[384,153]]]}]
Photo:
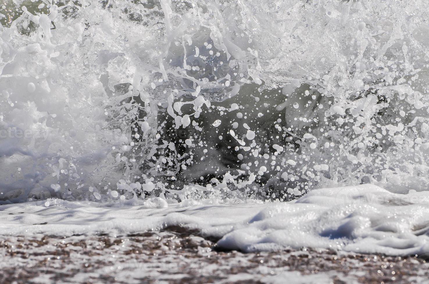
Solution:
[{"label": "thick white sea foam band between crashing wave and brown shore", "polygon": [[0,208],[6,236],[124,236],[181,225],[218,237],[218,246],[231,250],[311,247],[340,253],[429,254],[427,192],[394,194],[373,185],[315,189],[296,201],[279,203],[205,200],[167,205],[155,199],[143,206],[100,207],[48,199]]}]

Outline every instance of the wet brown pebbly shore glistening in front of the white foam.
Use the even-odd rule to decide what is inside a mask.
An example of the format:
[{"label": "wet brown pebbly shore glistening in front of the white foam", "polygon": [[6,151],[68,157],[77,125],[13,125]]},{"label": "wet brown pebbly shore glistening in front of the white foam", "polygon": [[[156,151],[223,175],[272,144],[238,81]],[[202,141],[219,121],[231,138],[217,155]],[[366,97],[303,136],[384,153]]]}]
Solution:
[{"label": "wet brown pebbly shore glistening in front of the white foam", "polygon": [[216,240],[169,227],[127,236],[1,237],[1,283],[421,283],[416,257],[329,250],[219,251]]}]

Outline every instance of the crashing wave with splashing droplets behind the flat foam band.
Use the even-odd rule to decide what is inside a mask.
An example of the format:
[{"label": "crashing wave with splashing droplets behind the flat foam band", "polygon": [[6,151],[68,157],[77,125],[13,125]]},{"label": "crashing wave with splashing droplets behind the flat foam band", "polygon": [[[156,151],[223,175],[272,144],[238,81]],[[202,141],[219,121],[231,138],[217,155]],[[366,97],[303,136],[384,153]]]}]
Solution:
[{"label": "crashing wave with splashing droplets behind the flat foam band", "polygon": [[2,202],[426,189],[429,3],[6,1]]}]

